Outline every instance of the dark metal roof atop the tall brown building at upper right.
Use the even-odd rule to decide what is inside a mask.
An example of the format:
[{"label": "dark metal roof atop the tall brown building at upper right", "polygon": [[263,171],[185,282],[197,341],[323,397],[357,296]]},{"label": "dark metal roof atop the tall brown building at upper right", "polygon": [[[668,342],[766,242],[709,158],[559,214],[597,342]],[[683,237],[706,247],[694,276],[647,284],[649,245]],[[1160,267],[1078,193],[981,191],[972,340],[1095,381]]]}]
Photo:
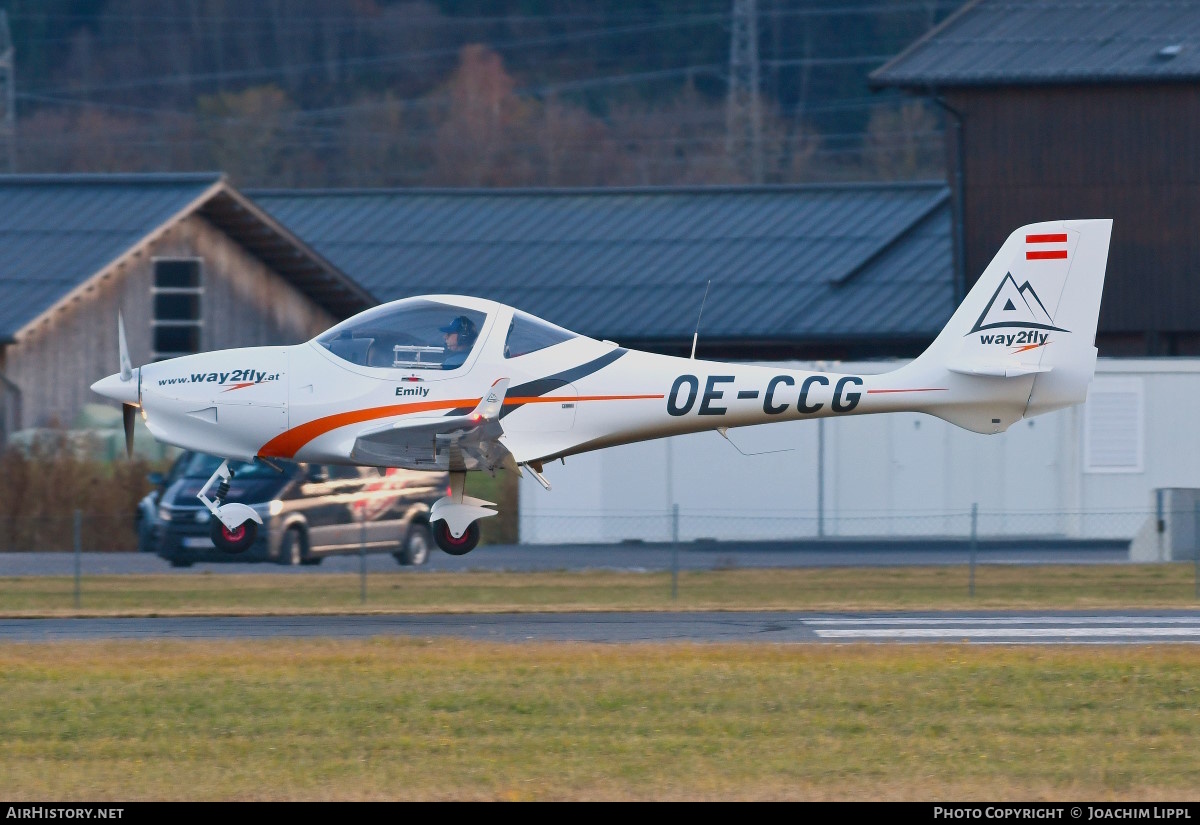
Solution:
[{"label": "dark metal roof atop the tall brown building at upper right", "polygon": [[1195,0],[977,0],[870,76],[877,86],[1196,79]]}]

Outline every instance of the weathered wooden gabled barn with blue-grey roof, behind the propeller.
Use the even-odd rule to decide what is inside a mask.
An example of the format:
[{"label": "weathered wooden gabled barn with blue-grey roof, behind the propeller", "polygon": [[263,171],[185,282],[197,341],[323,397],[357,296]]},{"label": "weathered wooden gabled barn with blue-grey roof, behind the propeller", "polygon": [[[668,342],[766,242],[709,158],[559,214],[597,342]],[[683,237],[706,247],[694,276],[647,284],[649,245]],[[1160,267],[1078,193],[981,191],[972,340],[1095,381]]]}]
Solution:
[{"label": "weathered wooden gabled barn with blue-grey roof, behind the propeller", "polygon": [[0,441],[118,369],[305,341],[374,300],[222,175],[0,176]]}]

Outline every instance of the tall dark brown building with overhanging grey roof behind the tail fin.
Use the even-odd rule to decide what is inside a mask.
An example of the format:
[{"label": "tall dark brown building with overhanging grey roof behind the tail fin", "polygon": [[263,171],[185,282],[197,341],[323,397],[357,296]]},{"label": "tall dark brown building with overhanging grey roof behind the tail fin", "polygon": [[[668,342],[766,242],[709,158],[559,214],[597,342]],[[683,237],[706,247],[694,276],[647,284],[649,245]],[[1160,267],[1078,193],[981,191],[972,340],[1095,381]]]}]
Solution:
[{"label": "tall dark brown building with overhanging grey roof behind the tail fin", "polygon": [[947,114],[967,285],[1016,227],[1109,217],[1100,355],[1200,354],[1200,6],[977,0],[871,82]]}]

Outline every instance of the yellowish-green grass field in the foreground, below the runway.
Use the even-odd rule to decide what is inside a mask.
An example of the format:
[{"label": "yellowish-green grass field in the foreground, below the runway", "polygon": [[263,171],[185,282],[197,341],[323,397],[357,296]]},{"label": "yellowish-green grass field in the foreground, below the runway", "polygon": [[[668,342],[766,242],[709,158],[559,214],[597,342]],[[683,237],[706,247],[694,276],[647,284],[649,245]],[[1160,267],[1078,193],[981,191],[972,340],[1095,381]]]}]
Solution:
[{"label": "yellowish-green grass field in the foreground, below the runway", "polygon": [[10,801],[1200,799],[1200,649],[0,646]]}]

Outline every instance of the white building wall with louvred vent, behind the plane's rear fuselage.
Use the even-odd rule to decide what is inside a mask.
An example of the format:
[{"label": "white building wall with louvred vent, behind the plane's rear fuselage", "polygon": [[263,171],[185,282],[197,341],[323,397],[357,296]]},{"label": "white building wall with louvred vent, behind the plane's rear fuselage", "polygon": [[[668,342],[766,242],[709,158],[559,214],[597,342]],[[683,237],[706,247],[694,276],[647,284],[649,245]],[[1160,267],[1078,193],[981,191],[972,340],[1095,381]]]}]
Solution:
[{"label": "white building wall with louvred vent, behind the plane's rear fuselage", "polygon": [[1200,488],[1198,407],[1200,359],[1102,359],[1084,405],[1000,435],[896,412],[626,445],[523,478],[521,541],[668,541],[672,505],[684,541],[961,537],[972,505],[982,536],[1132,538],[1154,489]]}]

